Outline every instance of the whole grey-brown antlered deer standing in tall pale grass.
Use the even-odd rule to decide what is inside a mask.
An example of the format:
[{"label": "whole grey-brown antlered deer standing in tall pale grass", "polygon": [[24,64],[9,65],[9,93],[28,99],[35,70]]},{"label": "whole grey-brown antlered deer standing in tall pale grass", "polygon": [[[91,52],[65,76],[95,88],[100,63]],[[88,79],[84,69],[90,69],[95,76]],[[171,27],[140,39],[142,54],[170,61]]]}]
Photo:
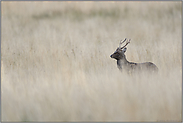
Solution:
[{"label": "whole grey-brown antlered deer standing in tall pale grass", "polygon": [[[127,40],[125,38],[124,41],[120,41],[119,47],[116,49],[116,51],[110,56],[111,58],[114,58],[117,60],[117,66],[120,71],[125,70],[128,73],[129,72],[134,72],[134,71],[158,71],[158,67],[153,64],[152,62],[144,62],[144,63],[134,63],[134,62],[129,62],[126,59],[125,52],[126,52],[126,46],[130,43],[130,39]],[[126,44],[121,47],[121,44],[126,41]]]}]

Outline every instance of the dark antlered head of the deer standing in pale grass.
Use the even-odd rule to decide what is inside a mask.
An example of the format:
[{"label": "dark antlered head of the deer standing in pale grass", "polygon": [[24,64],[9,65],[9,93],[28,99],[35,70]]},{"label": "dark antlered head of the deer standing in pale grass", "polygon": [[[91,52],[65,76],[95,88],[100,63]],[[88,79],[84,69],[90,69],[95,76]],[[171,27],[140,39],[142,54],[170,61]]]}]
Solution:
[{"label": "dark antlered head of the deer standing in pale grass", "polygon": [[[116,59],[116,60],[120,60],[120,59],[123,59],[124,57],[125,57],[125,52],[126,52],[126,46],[130,43],[130,40],[131,39],[129,39],[129,40],[127,40],[126,38],[125,38],[125,40],[124,41],[120,41],[120,43],[119,43],[119,47],[116,49],[116,51],[110,56],[111,58],[114,58],[114,59]],[[126,44],[123,46],[123,47],[121,47],[121,45],[124,43],[126,41]]]}]

